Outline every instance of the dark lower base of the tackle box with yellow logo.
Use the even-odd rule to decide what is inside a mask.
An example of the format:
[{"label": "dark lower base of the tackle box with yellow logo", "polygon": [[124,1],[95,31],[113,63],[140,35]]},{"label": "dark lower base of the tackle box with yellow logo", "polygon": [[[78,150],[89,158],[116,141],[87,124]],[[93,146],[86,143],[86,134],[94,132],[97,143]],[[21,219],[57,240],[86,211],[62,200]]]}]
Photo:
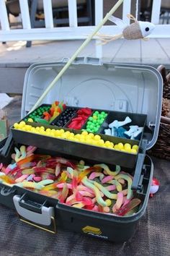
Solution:
[{"label": "dark lower base of the tackle box with yellow logo", "polygon": [[[12,151],[10,151],[8,155],[9,158],[11,153]],[[40,148],[37,149],[36,153],[58,155],[55,151],[41,150]],[[4,163],[6,159],[7,158],[3,158],[0,155],[2,163]],[[140,171],[140,174],[143,177],[140,181],[142,189],[140,189],[140,191],[135,190],[134,193],[135,197],[142,200],[142,203],[140,204],[138,213],[135,213],[135,216],[112,216],[110,214],[96,213],[91,210],[73,208],[69,205],[63,205],[58,202],[58,200],[51,197],[32,192],[29,189],[17,186],[11,188],[4,184],[0,184],[0,202],[9,208],[15,209],[13,197],[14,195],[17,195],[20,198],[24,198],[24,203],[21,205],[23,208],[37,213],[40,211],[40,208],[37,208],[37,205],[44,205],[45,202],[46,207],[52,207],[55,210],[54,216],[57,228],[68,229],[70,231],[76,231],[81,234],[113,242],[125,242],[133,236],[136,225],[145,213],[148,204],[149,190],[153,176],[153,164],[151,158],[148,156],[145,157],[143,171]],[[47,229],[47,226],[42,226],[42,228]],[[49,227],[49,229],[53,229],[53,226]]]}]

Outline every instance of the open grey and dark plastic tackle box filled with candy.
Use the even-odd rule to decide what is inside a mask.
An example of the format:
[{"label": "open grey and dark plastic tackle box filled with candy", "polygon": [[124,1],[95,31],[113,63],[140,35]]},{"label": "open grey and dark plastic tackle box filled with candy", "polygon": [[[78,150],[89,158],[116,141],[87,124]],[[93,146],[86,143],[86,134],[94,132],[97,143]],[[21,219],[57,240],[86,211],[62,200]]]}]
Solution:
[{"label": "open grey and dark plastic tackle box filled with candy", "polygon": [[[22,120],[34,106],[40,95],[66,64],[66,59],[55,63],[33,64],[27,69],[24,78],[22,98]],[[146,211],[153,176],[153,163],[146,150],[153,147],[158,137],[162,98],[161,74],[149,66],[102,63],[96,58],[77,58],[63,74],[53,89],[44,98],[43,106],[54,101],[63,101],[70,108],[91,108],[104,111],[107,116],[97,130],[102,140],[118,144],[138,145],[137,153],[91,145],[25,132],[11,128],[11,135],[1,142],[0,163],[9,164],[14,147],[32,145],[36,153],[58,155],[68,159],[83,159],[85,163],[106,163],[110,168],[120,165],[123,171],[133,174],[132,189],[141,200],[138,212],[132,216],[115,216],[91,210],[73,208],[58,200],[14,185],[0,183],[0,203],[17,210],[22,221],[41,229],[55,232],[57,228],[78,231],[89,236],[108,239],[114,242],[128,240],[135,231],[136,224]],[[62,114],[62,113],[61,113]],[[76,113],[75,113],[76,115]],[[75,117],[71,116],[71,118]],[[130,125],[143,127],[138,140],[104,135],[104,129],[114,120],[124,120],[127,116]],[[57,117],[56,120],[60,115]],[[61,129],[53,121],[50,124],[26,122],[32,127]],[[86,124],[82,127],[85,128]],[[80,134],[80,129],[64,131]]]}]

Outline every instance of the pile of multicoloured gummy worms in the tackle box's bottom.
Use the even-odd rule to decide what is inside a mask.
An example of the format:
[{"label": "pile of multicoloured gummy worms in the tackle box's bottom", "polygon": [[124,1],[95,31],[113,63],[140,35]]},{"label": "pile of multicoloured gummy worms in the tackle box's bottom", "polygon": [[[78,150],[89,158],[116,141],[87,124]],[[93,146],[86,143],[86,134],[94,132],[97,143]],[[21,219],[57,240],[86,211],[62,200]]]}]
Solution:
[{"label": "pile of multicoloured gummy worms in the tackle box's bottom", "polygon": [[117,216],[135,213],[141,202],[133,197],[133,176],[121,171],[120,166],[115,171],[104,163],[85,166],[82,160],[36,154],[32,146],[14,150],[12,163],[0,163],[3,184],[32,189],[74,208]]}]

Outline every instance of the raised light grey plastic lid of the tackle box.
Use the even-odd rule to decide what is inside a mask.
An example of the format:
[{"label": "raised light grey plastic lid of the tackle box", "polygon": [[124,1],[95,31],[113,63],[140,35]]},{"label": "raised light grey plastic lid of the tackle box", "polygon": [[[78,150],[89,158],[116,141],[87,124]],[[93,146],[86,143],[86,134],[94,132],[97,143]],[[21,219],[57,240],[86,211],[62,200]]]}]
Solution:
[{"label": "raised light grey plastic lid of the tackle box", "polygon": [[[32,64],[24,77],[22,118],[68,61]],[[163,81],[153,67],[102,62],[78,57],[42,103],[63,101],[68,106],[147,114],[147,150],[158,137]]]}]

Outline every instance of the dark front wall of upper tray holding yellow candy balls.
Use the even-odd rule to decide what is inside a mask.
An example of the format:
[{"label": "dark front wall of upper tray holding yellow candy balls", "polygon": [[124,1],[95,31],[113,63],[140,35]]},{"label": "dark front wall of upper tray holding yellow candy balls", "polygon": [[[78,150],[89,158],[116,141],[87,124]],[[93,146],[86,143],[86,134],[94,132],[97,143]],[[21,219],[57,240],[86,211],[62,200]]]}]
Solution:
[{"label": "dark front wall of upper tray holding yellow candy balls", "polygon": [[[40,124],[33,124],[34,127],[40,127]],[[45,125],[45,128],[58,129],[58,127]],[[64,131],[70,131],[74,134],[81,134],[80,130],[71,130],[63,128]],[[80,158],[93,159],[94,161],[100,161],[101,163],[118,164],[120,166],[134,168],[137,155],[133,153],[126,153],[120,150],[112,150],[109,148],[97,147],[94,145],[83,144],[71,140],[64,140],[57,137],[50,137],[39,135],[32,132],[24,132],[19,129],[12,129],[12,135],[16,142],[25,145],[34,145],[39,148],[45,148],[48,150],[56,150],[60,153],[68,155],[75,155]],[[131,146],[138,145],[140,148],[140,142],[138,140],[128,140],[125,138],[112,137],[109,135],[99,135],[102,140],[113,142],[114,145],[122,142],[123,144],[129,143]]]}]

